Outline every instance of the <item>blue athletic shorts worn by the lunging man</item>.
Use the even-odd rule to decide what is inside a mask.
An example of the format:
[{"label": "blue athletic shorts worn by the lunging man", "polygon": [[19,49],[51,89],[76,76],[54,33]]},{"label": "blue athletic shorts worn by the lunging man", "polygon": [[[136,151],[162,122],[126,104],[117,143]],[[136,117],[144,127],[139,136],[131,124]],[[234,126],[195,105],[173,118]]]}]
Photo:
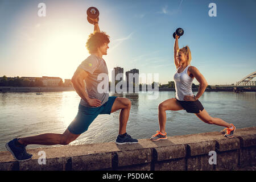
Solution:
[{"label": "blue athletic shorts worn by the lunging man", "polygon": [[90,124],[99,114],[110,114],[115,98],[109,97],[109,100],[100,107],[85,107],[79,104],[79,111],[76,118],[68,126],[68,130],[73,134],[81,134],[88,130]]}]

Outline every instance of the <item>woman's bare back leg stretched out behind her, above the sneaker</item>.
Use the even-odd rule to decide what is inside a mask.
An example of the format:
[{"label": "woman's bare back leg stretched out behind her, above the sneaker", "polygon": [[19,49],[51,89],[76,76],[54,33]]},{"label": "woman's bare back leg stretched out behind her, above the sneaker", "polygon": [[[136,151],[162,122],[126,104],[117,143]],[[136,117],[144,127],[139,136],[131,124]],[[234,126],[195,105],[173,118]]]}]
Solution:
[{"label": "woman's bare back leg stretched out behind her, above the sneaker", "polygon": [[203,111],[200,111],[200,113],[195,113],[197,117],[201,119],[201,121],[208,123],[210,125],[218,125],[218,126],[224,126],[224,127],[232,127],[230,123],[225,122],[224,120],[220,118],[213,118],[211,117],[207,111],[204,109]]}]

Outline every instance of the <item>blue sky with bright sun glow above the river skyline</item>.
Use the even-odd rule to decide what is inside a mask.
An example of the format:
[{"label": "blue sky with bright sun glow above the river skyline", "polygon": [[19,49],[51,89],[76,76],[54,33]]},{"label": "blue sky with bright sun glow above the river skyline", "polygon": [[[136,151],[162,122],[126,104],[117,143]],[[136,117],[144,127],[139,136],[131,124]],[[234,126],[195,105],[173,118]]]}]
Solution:
[{"label": "blue sky with bright sun glow above the river skyline", "polygon": [[[46,16],[38,16],[39,3]],[[210,3],[217,16],[209,16]],[[110,36],[103,56],[110,80],[118,66],[159,74],[162,84],[174,81],[172,34],[179,27],[179,47],[189,46],[191,65],[208,85],[236,84],[256,71],[254,0],[0,0],[0,76],[71,79],[89,56],[90,6],[100,11],[100,30]]]}]

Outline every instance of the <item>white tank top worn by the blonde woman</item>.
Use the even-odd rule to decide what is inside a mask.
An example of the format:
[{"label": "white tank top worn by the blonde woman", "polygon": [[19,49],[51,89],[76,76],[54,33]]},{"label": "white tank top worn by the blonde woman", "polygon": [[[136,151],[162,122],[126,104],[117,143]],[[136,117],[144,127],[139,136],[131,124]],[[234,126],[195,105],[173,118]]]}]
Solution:
[{"label": "white tank top worn by the blonde woman", "polygon": [[175,90],[176,90],[176,98],[179,101],[184,101],[184,96],[193,96],[192,93],[192,82],[193,78],[188,76],[188,68],[190,67],[190,64],[187,66],[187,68],[184,69],[183,72],[178,73],[177,69],[176,73],[174,74],[174,82],[175,82]]}]

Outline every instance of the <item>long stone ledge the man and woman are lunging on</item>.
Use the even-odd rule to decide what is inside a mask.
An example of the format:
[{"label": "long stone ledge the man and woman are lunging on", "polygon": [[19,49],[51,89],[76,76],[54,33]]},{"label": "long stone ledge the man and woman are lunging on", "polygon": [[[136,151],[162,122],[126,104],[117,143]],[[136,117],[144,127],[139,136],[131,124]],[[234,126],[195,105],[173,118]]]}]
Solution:
[{"label": "long stone ledge the man and woman are lunging on", "polygon": [[[46,164],[39,164],[46,153]],[[216,151],[216,164],[210,164]],[[31,160],[16,162],[0,152],[1,171],[26,170],[238,170],[256,164],[256,127],[237,129],[234,138],[219,132],[168,137],[118,146],[114,142],[30,148]]]}]

